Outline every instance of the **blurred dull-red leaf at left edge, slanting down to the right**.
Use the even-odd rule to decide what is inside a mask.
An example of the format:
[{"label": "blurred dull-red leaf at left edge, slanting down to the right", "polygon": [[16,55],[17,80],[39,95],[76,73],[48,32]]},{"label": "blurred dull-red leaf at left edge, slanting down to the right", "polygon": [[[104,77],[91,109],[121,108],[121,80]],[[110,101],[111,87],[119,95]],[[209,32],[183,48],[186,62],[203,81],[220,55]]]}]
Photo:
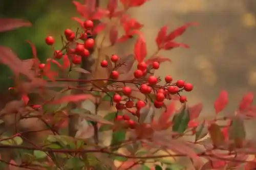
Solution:
[{"label": "blurred dull-red leaf at left edge, slanting down to the right", "polygon": [[20,60],[10,48],[0,46],[0,62],[10,67],[14,74],[24,74],[30,80],[35,78],[32,70],[26,67],[26,65]]}]

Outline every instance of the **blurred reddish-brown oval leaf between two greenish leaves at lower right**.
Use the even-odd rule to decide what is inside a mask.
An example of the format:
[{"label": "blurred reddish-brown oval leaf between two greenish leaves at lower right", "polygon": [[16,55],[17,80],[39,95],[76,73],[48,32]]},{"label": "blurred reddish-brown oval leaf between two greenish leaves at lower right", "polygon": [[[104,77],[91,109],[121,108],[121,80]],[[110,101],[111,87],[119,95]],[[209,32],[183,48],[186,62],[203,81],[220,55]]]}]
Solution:
[{"label": "blurred reddish-brown oval leaf between two greenish leaves at lower right", "polygon": [[208,128],[208,131],[210,134],[210,138],[214,145],[216,145],[216,147],[220,147],[221,145],[224,144],[225,138],[223,133],[221,132],[221,128],[219,125],[211,124],[210,127]]}]

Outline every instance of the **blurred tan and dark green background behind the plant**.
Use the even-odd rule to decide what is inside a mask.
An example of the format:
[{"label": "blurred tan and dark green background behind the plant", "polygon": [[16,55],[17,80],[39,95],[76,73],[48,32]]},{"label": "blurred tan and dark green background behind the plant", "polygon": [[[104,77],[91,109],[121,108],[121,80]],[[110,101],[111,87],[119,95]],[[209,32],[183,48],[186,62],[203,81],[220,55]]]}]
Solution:
[{"label": "blurred tan and dark green background behind the plant", "polygon": [[[101,1],[101,0],[100,0]],[[103,2],[104,1],[104,2]],[[102,3],[108,1],[102,0]],[[254,0],[152,0],[141,8],[130,10],[140,23],[148,54],[156,50],[155,36],[168,25],[169,31],[187,22],[199,22],[177,39],[190,45],[189,49],[176,48],[161,52],[172,64],[164,63],[157,75],[169,74],[175,80],[184,79],[195,86],[187,94],[190,104],[203,102],[205,114],[214,114],[214,101],[219,92],[229,93],[229,106],[225,114],[232,114],[242,96],[256,92],[256,1]],[[76,29],[78,16],[70,0],[2,0],[0,17],[23,18],[33,27],[0,34],[0,44],[9,46],[22,59],[32,56],[25,40],[33,42],[41,61],[52,54],[45,45],[45,37],[60,37],[66,28]],[[60,46],[60,38],[56,38]],[[118,48],[118,53],[133,53],[133,43]],[[11,72],[0,67],[1,90],[11,86],[7,79]]]}]

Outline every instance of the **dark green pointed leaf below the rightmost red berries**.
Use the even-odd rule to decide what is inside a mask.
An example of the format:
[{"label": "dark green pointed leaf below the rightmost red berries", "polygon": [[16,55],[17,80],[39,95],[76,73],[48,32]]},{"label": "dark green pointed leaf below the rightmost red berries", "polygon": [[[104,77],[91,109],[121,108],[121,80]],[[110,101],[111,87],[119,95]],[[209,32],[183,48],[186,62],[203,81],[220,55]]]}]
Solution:
[{"label": "dark green pointed leaf below the rightmost red berries", "polygon": [[187,129],[187,125],[189,122],[189,113],[185,109],[185,107],[182,108],[181,112],[176,114],[173,119],[173,131],[178,133],[183,133]]}]

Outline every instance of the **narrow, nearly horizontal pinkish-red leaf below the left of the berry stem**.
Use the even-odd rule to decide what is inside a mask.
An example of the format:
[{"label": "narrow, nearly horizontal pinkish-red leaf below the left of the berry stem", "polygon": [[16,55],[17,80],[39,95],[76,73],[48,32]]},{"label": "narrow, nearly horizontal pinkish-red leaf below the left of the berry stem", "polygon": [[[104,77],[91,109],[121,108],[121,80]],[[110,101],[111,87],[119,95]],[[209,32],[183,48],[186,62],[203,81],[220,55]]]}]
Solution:
[{"label": "narrow, nearly horizontal pinkish-red leaf below the left of the berry stem", "polygon": [[84,101],[87,100],[91,97],[90,94],[74,94],[74,95],[66,95],[63,96],[62,98],[53,101],[53,104],[60,104],[60,103],[65,103],[65,102],[79,102],[79,101]]}]

